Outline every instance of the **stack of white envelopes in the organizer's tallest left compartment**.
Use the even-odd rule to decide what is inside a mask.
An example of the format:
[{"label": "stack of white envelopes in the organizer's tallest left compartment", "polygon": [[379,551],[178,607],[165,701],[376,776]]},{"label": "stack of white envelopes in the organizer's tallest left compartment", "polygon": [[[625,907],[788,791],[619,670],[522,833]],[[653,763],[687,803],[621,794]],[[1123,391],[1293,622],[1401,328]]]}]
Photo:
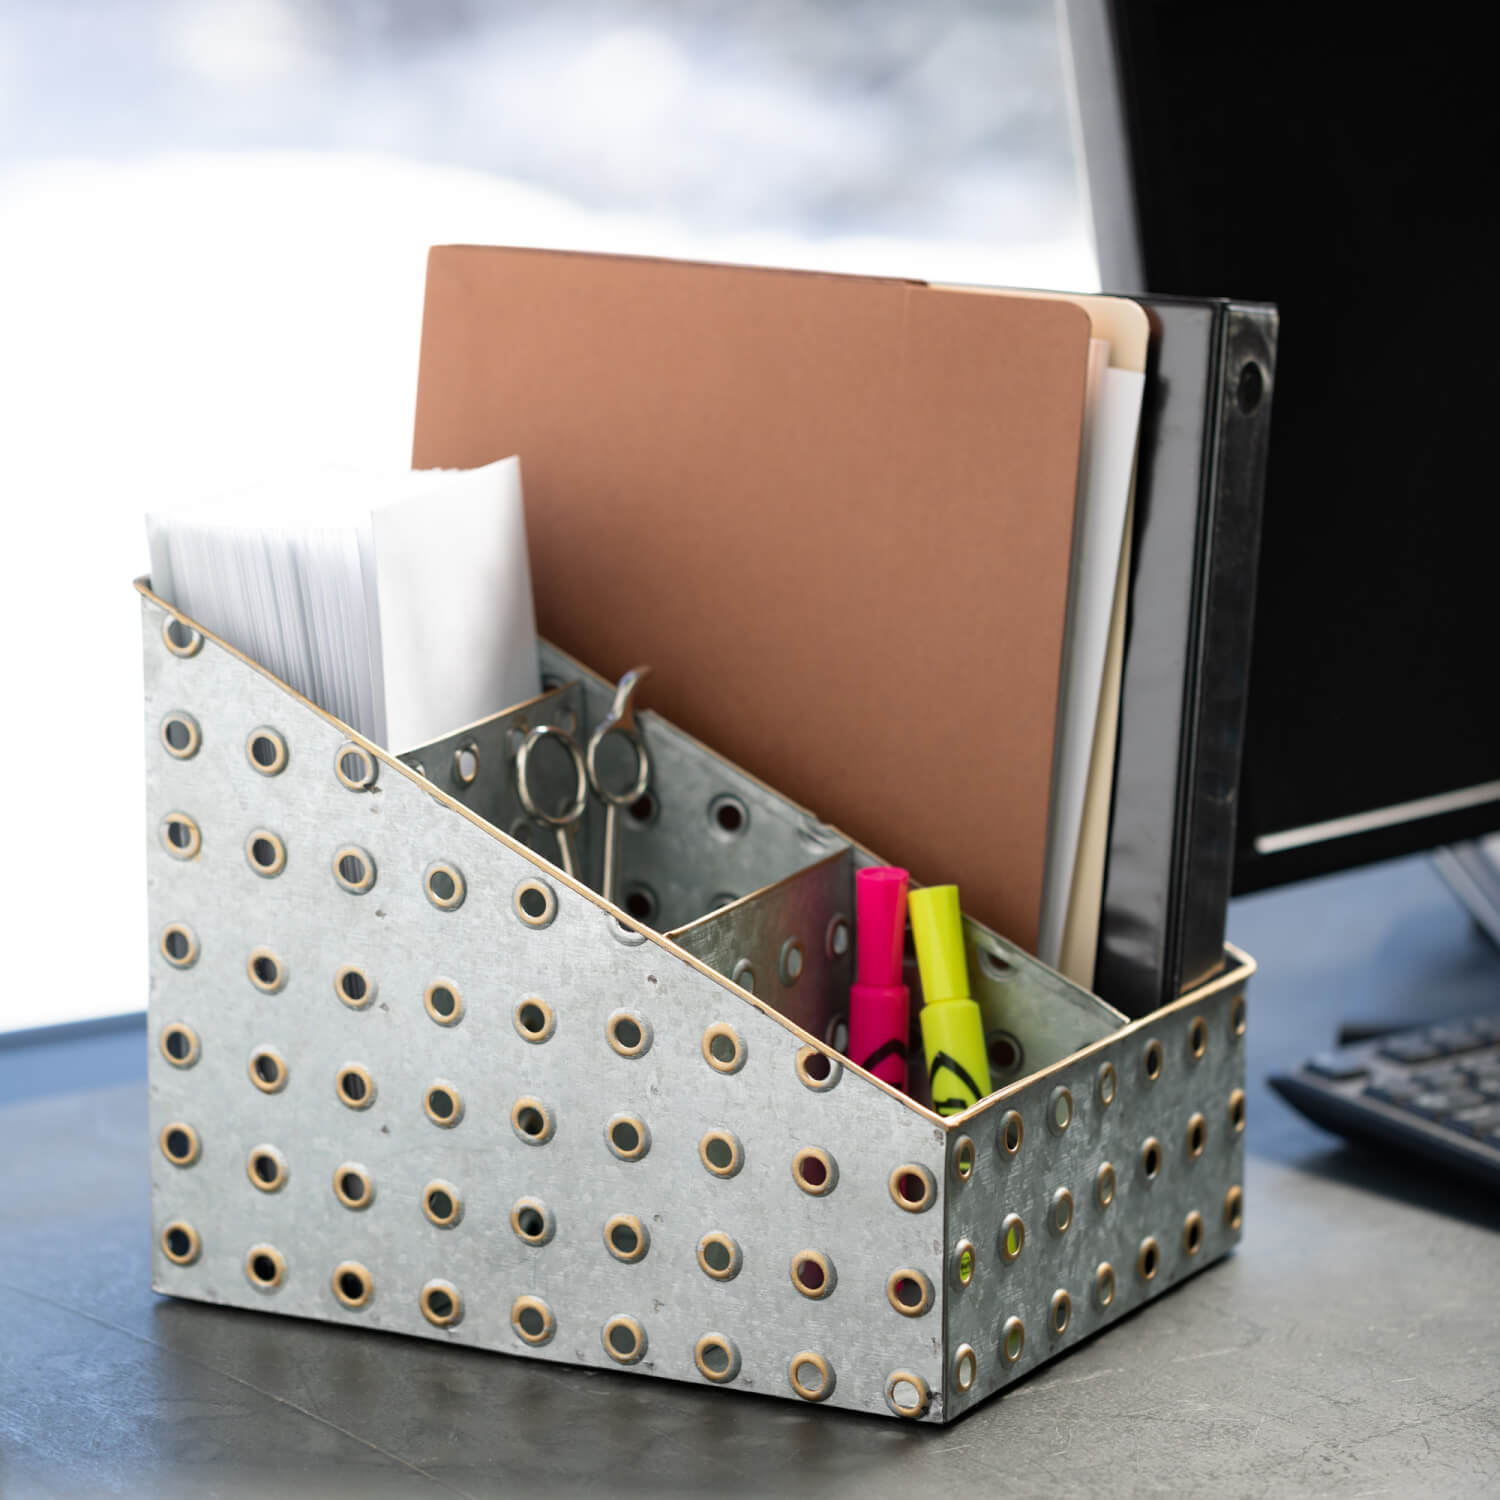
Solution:
[{"label": "stack of white envelopes in the organizer's tallest left compartment", "polygon": [[302,474],[153,513],[147,537],[162,597],[376,744],[537,693],[513,458]]}]

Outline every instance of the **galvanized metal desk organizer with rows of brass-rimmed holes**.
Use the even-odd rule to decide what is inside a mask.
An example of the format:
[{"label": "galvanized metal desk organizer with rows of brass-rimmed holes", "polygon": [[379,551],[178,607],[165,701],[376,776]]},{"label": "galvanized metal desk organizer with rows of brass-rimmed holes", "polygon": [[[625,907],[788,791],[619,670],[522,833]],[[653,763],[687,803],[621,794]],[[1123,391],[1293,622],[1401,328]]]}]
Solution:
[{"label": "galvanized metal desk organizer with rows of brass-rimmed holes", "polygon": [[837,1050],[837,830],[646,712],[610,906],[510,770],[609,684],[396,758],[136,586],[156,1290],[940,1424],[1239,1239],[1244,954],[1126,1023],[968,921],[942,1119]]}]

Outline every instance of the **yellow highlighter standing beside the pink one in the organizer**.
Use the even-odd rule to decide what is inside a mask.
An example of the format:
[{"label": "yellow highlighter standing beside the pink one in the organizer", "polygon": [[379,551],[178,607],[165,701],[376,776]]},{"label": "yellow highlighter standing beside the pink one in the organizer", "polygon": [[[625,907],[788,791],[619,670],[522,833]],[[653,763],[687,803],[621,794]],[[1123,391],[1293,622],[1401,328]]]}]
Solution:
[{"label": "yellow highlighter standing beside the pink one in the organizer", "polygon": [[906,898],[922,975],[922,1050],[933,1108],[958,1114],[990,1092],[984,1022],[969,994],[957,885],[930,885]]}]

